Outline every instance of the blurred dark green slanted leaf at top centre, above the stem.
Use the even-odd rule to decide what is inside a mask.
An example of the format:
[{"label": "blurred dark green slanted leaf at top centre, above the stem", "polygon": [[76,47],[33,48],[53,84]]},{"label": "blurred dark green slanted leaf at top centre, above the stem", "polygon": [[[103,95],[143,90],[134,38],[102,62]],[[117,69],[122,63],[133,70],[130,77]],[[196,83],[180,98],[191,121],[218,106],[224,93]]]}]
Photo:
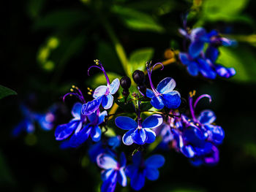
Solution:
[{"label": "blurred dark green slanted leaf at top centre, above the stem", "polygon": [[124,24],[133,30],[154,31],[158,33],[164,31],[164,28],[151,15],[147,15],[144,12],[121,6],[114,6],[112,12],[116,13]]}]

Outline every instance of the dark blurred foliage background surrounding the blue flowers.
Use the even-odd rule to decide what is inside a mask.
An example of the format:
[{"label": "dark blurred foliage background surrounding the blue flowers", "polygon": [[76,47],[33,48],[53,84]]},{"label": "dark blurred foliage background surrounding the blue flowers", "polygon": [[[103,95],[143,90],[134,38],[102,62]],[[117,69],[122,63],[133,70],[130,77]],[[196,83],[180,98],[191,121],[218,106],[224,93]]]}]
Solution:
[{"label": "dark blurred foliage background surrounding the blue flowers", "polygon": [[[39,127],[34,134],[10,136],[23,118],[19,105],[28,102],[33,110],[44,112],[51,104],[61,103],[61,96],[72,84],[85,93],[87,86],[95,88],[96,83],[86,81],[87,69],[95,58],[108,71],[124,75],[102,18],[108,20],[127,55],[152,47],[153,61],[159,62],[165,61],[165,50],[170,47],[183,49],[177,30],[182,26],[181,15],[191,7],[189,26],[204,26],[208,31],[217,28],[238,40],[237,47],[228,48],[230,58],[223,56],[221,60],[236,69],[236,77],[205,80],[189,76],[181,64],[170,64],[163,71],[154,72],[153,79],[157,84],[163,77],[173,77],[184,97],[194,89],[197,95],[211,94],[212,103],[202,101],[197,112],[214,110],[217,124],[225,130],[224,143],[219,147],[220,161],[217,166],[193,167],[181,154],[159,152],[166,158],[159,180],[146,181],[141,191],[256,191],[256,1],[221,1],[222,5],[216,1],[212,7],[211,0],[207,1],[28,0],[4,5],[0,79],[1,85],[18,95],[0,100],[0,191],[99,191],[100,169],[86,156],[86,145],[61,150],[54,131]],[[204,5],[207,3],[209,9]],[[115,5],[129,8],[130,15],[120,14],[122,10],[113,12]],[[127,20],[136,17],[142,23],[149,22],[137,12],[157,20],[163,30],[152,29],[152,23],[149,29],[127,26]],[[143,26],[142,23],[138,25]],[[40,51],[50,37],[58,39],[59,46],[50,50],[46,61],[40,61]],[[47,65],[48,61],[52,63]],[[97,74],[97,70],[91,74]],[[69,120],[74,101],[67,99],[61,123]],[[132,189],[118,185],[116,191]]]}]

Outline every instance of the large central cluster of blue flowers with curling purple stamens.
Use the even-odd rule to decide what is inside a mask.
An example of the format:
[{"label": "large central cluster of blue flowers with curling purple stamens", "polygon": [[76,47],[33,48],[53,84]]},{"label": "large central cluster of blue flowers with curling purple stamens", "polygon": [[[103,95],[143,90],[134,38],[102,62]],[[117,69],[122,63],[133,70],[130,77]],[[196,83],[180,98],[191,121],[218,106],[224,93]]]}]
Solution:
[{"label": "large central cluster of blue flowers with curling purple stamens", "polygon": [[[129,77],[122,77],[121,83],[118,79],[110,83],[101,62],[96,60],[95,63],[89,70],[92,67],[100,69],[105,75],[107,85],[100,85],[94,91],[89,89],[93,98],[87,102],[83,93],[73,85],[71,92],[64,95],[63,99],[71,95],[76,96],[79,102],[72,107],[72,120],[56,127],[55,137],[56,140],[64,141],[62,148],[79,147],[90,140],[90,159],[102,169],[102,192],[113,192],[117,183],[127,186],[127,177],[136,191],[143,188],[146,178],[159,178],[158,169],[165,164],[165,158],[156,154],[149,156],[143,150],[154,143],[156,137],[162,137],[159,147],[164,144],[165,147],[174,148],[189,158],[195,166],[217,164],[217,147],[224,139],[224,131],[214,123],[216,116],[211,110],[204,110],[195,116],[198,101],[204,97],[211,100],[211,96],[202,95],[193,103],[195,92],[190,93],[190,115],[187,115],[181,112],[184,99],[181,99],[178,91],[174,91],[176,82],[173,78],[165,77],[154,88],[151,74],[155,66],[162,64],[157,63],[151,67],[151,63],[146,63],[150,89],[146,88],[145,73],[136,70],[132,77],[138,85],[138,92],[130,94],[132,83]],[[123,96],[118,96],[119,85],[123,88]],[[110,114],[108,110],[114,101],[120,106],[120,110]],[[121,128],[127,132],[123,133],[122,139],[120,135],[108,137],[108,128]],[[135,149],[132,158],[124,152],[118,155],[116,149],[120,147],[121,141]],[[149,157],[145,160],[144,156]]]}]

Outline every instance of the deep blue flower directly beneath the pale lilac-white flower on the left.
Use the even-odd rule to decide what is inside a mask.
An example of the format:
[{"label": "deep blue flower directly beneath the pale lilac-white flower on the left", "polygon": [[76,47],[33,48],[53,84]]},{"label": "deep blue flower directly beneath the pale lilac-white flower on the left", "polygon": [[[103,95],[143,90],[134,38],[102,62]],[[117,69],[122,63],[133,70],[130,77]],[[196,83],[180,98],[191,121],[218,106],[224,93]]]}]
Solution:
[{"label": "deep blue flower directly beneath the pale lilac-white flower on the left", "polygon": [[99,110],[89,115],[87,117],[89,119],[89,123],[75,131],[75,134],[73,134],[69,139],[69,145],[71,147],[78,147],[83,144],[89,136],[91,136],[91,139],[94,142],[99,142],[102,135],[99,125],[104,122],[106,115],[108,115],[107,111],[99,112]]}]

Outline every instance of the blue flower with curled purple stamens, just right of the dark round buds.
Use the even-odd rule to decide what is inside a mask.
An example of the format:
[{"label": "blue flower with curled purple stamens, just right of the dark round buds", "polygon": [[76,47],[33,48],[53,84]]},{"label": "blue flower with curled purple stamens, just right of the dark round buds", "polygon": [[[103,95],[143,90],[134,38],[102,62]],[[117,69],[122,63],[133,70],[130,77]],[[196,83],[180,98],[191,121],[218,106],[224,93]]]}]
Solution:
[{"label": "blue flower with curled purple stamens, just right of the dark round buds", "polygon": [[[156,66],[155,64],[154,66]],[[152,69],[154,69],[154,66]],[[181,104],[181,96],[178,91],[173,91],[176,87],[176,82],[170,77],[166,77],[157,85],[157,89],[154,88],[153,82],[151,80],[152,69],[148,66],[148,78],[152,90],[146,90],[146,96],[151,98],[151,104],[157,110],[162,110],[162,108],[167,107],[169,109],[176,109]]]}]

